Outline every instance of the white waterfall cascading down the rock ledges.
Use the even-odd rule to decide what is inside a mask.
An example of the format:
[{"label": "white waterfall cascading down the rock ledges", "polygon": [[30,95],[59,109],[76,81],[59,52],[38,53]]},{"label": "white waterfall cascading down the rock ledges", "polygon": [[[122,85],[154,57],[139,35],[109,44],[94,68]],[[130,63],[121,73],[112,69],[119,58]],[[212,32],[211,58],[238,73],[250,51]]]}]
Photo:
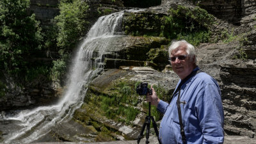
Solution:
[{"label": "white waterfall cascading down the rock ledges", "polygon": [[[123,12],[100,17],[92,26],[86,38],[77,47],[72,60],[67,89],[62,98],[52,106],[20,111],[14,116],[3,116],[1,127],[6,129],[3,143],[31,143],[44,136],[56,124],[70,120],[74,111],[83,104],[88,84],[102,69],[102,55],[110,40],[115,40],[120,31]],[[97,51],[97,58],[95,52]],[[95,58],[93,61],[92,59]],[[2,129],[1,129],[2,131]]]}]

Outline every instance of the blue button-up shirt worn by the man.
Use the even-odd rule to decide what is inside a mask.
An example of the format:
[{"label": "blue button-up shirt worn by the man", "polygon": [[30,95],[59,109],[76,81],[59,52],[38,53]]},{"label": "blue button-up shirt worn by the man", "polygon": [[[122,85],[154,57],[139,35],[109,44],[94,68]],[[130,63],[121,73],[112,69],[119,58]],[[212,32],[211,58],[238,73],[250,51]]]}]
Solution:
[{"label": "blue button-up shirt worn by the man", "polygon": [[[159,129],[163,144],[182,143],[176,104],[178,93],[173,95],[170,104],[160,100],[157,105],[157,109],[164,113]],[[205,72],[191,77],[180,88],[180,102],[188,143],[223,143],[224,113],[220,87],[215,79]]]}]

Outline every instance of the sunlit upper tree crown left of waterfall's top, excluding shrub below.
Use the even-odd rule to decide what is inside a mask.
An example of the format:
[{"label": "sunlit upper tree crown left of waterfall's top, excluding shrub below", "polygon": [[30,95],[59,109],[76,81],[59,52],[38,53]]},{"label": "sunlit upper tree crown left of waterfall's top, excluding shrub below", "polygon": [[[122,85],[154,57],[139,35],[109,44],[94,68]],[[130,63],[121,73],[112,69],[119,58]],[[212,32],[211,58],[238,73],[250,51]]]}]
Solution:
[{"label": "sunlit upper tree crown left of waterfall's top, excluding shrub below", "polygon": [[58,26],[57,45],[72,50],[86,30],[88,4],[81,0],[61,1],[59,8],[60,15],[54,18]]}]

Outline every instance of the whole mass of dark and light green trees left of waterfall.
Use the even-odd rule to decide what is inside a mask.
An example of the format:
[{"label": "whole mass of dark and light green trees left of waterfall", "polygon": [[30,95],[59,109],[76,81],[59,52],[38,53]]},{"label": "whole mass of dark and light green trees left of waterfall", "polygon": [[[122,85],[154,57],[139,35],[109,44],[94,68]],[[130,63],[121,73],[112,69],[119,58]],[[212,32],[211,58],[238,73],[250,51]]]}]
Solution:
[{"label": "whole mass of dark and light green trees left of waterfall", "polygon": [[[70,53],[88,29],[88,4],[60,1],[60,15],[52,21],[49,31],[42,31],[35,14],[28,12],[29,4],[29,0],[0,2],[0,68],[23,84],[40,81],[38,77],[49,80],[50,75],[53,80],[63,79]],[[35,61],[44,51],[53,49],[60,49],[61,56],[53,61],[53,67]]]}]

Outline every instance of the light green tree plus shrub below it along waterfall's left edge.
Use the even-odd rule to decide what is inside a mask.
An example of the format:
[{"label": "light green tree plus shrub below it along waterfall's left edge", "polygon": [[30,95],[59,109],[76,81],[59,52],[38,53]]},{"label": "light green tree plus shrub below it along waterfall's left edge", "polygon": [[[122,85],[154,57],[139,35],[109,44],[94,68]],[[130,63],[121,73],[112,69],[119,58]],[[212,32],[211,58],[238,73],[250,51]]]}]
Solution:
[{"label": "light green tree plus shrub below it along waterfall's left edge", "polygon": [[[81,0],[61,0],[60,15],[54,18],[56,29],[52,35],[56,35],[57,46],[60,47],[61,59],[53,61],[51,69],[52,79],[54,81],[65,79],[64,74],[67,67],[67,60],[73,51],[79,38],[84,35],[84,31],[88,29],[88,21],[86,21],[86,12],[88,4]],[[49,33],[51,34],[51,33]],[[52,45],[54,36],[49,35],[45,46]]]}]

